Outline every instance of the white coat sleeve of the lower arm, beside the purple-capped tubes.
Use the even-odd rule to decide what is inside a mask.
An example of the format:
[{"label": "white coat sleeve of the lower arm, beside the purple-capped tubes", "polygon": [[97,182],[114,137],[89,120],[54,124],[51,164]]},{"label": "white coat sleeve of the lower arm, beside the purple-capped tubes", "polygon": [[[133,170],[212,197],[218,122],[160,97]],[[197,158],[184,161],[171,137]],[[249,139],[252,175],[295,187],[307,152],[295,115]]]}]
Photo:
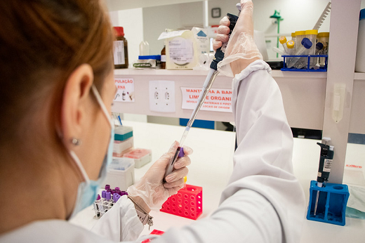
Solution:
[{"label": "white coat sleeve of the lower arm, beside the purple-capped tubes", "polygon": [[135,241],[143,230],[133,202],[126,196],[103,215],[91,229],[113,242]]}]

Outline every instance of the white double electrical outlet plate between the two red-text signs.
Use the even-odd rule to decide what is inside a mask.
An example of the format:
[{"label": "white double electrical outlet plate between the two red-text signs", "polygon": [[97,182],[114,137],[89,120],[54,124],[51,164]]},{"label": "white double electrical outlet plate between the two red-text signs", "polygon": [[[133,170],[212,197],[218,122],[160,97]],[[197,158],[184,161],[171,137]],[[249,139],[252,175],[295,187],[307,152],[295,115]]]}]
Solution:
[{"label": "white double electrical outlet plate between the two red-text signs", "polygon": [[175,112],[175,81],[150,81],[150,110]]}]

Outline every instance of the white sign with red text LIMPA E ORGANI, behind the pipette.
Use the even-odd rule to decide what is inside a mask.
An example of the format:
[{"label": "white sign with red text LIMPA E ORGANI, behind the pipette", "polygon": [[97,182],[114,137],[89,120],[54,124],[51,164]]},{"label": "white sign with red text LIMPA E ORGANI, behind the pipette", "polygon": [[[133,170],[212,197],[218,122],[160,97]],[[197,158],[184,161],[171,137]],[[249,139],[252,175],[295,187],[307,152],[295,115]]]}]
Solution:
[{"label": "white sign with red text LIMPA E ORGANI, behind the pipette", "polygon": [[[194,110],[201,93],[201,88],[181,87],[183,94],[182,109]],[[212,112],[232,112],[232,89],[231,88],[211,88],[204,104],[200,110]]]}]

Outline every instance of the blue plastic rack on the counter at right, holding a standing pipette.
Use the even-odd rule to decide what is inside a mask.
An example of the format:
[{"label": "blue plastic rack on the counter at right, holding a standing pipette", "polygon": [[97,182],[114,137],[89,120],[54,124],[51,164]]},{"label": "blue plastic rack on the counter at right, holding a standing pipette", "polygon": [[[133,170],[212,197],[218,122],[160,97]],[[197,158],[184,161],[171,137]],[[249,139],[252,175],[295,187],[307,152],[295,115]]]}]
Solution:
[{"label": "blue plastic rack on the counter at right, holding a standing pipette", "polygon": [[[317,214],[314,216],[317,191],[319,191],[319,198]],[[349,196],[350,193],[345,184],[327,183],[326,187],[319,188],[317,181],[312,180],[310,182],[310,203],[308,205],[307,220],[344,226]]]}]

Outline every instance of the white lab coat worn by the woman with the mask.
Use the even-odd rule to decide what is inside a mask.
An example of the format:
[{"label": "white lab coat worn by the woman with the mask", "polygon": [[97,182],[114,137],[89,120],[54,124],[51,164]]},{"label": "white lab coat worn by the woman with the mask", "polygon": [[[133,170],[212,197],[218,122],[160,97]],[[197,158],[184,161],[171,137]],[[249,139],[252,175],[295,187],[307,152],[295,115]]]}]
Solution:
[{"label": "white lab coat worn by the woman with the mask", "polygon": [[[293,138],[270,72],[257,60],[233,79],[238,147],[218,209],[184,228],[167,230],[154,242],[299,242],[305,197],[293,176]],[[133,204],[122,197],[93,228],[107,239],[65,221],[39,221],[1,236],[0,242],[135,240],[142,232],[138,221]]]}]

